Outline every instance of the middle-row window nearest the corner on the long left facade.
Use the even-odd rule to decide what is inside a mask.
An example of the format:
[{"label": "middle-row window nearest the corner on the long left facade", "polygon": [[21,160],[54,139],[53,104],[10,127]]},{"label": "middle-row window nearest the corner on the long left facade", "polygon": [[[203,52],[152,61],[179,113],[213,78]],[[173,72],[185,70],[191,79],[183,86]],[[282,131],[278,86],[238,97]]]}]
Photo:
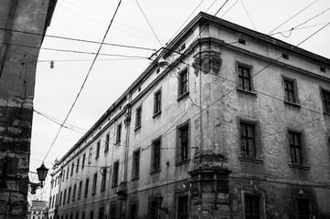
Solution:
[{"label": "middle-row window nearest the corner on the long left facade", "polygon": [[177,128],[176,162],[186,161],[189,158],[189,123]]}]

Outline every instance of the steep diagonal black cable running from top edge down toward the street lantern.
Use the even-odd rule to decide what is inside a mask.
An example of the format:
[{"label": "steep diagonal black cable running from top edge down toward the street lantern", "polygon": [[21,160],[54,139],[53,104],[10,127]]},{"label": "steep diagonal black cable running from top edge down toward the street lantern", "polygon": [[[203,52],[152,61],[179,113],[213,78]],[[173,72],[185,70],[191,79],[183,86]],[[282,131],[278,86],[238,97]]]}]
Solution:
[{"label": "steep diagonal black cable running from top edge down toward the street lantern", "polygon": [[[114,14],[113,14],[113,16],[112,16],[112,20],[111,20],[111,22],[110,22],[110,24],[109,24],[109,26],[108,26],[108,28],[107,28],[107,30],[106,30],[104,36],[103,36],[102,43],[104,42],[105,37],[108,35],[108,32],[109,32],[109,30],[110,30],[110,27],[112,26],[113,19],[114,19],[114,17],[117,15],[117,12],[118,12],[118,9],[119,9],[119,6],[121,5],[121,3],[122,3],[122,0],[120,0],[119,3],[118,3],[118,5],[117,5],[117,8],[116,8],[116,10],[115,10],[115,12],[114,12]],[[87,75],[86,75],[84,81],[82,82],[82,85],[81,85],[80,91],[78,92],[77,97],[76,97],[76,99],[73,101],[72,106],[71,106],[71,108],[69,109],[69,112],[68,112],[67,117],[66,117],[65,120],[62,122],[62,125],[59,127],[59,131],[58,131],[58,133],[57,133],[57,135],[56,135],[54,141],[51,143],[51,145],[50,145],[50,147],[49,147],[49,150],[48,150],[48,152],[47,152],[47,154],[46,154],[46,156],[45,156],[45,158],[44,158],[44,161],[46,160],[46,158],[47,158],[47,156],[48,156],[48,153],[49,153],[49,151],[51,150],[51,148],[53,147],[55,141],[58,139],[60,130],[62,130],[63,125],[64,125],[65,122],[68,120],[68,118],[69,118],[69,114],[71,113],[73,107],[75,106],[77,100],[78,100],[79,97],[80,97],[81,90],[84,88],[85,83],[86,83],[87,79],[88,79],[89,76],[90,76],[90,71],[91,71],[91,69],[92,69],[93,66],[94,66],[95,60],[96,60],[97,57],[99,56],[99,53],[100,53],[100,51],[101,51],[101,47],[102,47],[102,43],[101,43],[101,45],[100,45],[100,47],[99,47],[99,49],[98,49],[98,51],[97,51],[97,53],[96,53],[96,56],[94,57],[93,62],[92,62],[91,65],[90,65],[90,69],[89,69],[89,71],[88,71],[88,73],[87,73]]]}]

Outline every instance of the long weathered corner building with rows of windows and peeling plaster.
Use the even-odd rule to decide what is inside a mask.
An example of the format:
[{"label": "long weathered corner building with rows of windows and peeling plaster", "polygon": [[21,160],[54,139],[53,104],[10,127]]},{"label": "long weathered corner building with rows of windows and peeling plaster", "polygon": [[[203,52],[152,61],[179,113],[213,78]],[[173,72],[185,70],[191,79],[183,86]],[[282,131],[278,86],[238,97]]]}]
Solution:
[{"label": "long weathered corner building with rows of windows and peeling plaster", "polygon": [[59,161],[50,218],[329,218],[329,74],[200,13]]}]

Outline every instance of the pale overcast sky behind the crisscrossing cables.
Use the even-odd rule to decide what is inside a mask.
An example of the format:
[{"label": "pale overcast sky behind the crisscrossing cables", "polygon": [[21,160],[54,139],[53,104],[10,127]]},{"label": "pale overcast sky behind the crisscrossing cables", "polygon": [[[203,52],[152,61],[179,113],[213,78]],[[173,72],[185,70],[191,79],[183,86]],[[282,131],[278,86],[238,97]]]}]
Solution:
[{"label": "pale overcast sky behind the crisscrossing cables", "polygon": [[[225,3],[225,0],[138,0],[138,2],[151,26],[153,26],[155,34],[162,45],[165,46],[165,43],[175,36],[176,31],[193,13],[197,5],[200,4],[187,22],[200,11],[214,15]],[[212,5],[213,3],[214,5]],[[275,31],[278,32],[289,30],[317,16],[330,8],[330,2],[328,0],[229,0],[217,16],[223,16],[229,7],[235,4],[222,17],[223,19],[250,29],[254,29],[253,26],[255,26],[257,31],[268,34],[276,26],[280,26],[284,21],[312,3],[314,4]],[[48,27],[47,35],[101,42],[117,4],[118,1],[110,0],[59,0],[51,24]],[[250,18],[243,5],[245,5]],[[330,10],[308,21],[303,26],[299,26],[306,28],[295,30],[291,35],[290,32],[283,33],[283,35],[289,37],[284,37],[281,34],[274,37],[297,45],[328,22],[330,22]],[[330,58],[329,36],[330,25],[312,36],[300,47]],[[105,42],[154,49],[161,47],[135,0],[122,1]],[[96,53],[99,45],[46,36],[42,47]],[[101,53],[150,57],[153,51],[103,46]],[[59,123],[61,123],[67,116],[94,57],[95,55],[41,49],[37,64],[34,109],[59,120]],[[85,60],[81,61],[81,59]],[[49,68],[50,60],[54,60],[55,68]],[[150,60],[145,58],[127,59],[99,56],[98,60],[91,69],[90,77],[67,120],[69,125],[78,128],[61,130],[59,138],[45,160],[45,165],[48,168],[52,167],[52,163],[56,158],[60,159],[69,151],[83,135],[82,133],[90,129],[150,64]],[[31,172],[36,172],[37,167],[45,159],[58,131],[58,124],[37,113],[34,114],[31,140]],[[34,176],[33,174],[30,175],[31,180]],[[37,176],[34,181],[36,180]],[[50,177],[48,177],[49,180]],[[37,195],[32,195],[29,198],[48,200],[48,184],[45,186],[43,195],[37,193]]]}]

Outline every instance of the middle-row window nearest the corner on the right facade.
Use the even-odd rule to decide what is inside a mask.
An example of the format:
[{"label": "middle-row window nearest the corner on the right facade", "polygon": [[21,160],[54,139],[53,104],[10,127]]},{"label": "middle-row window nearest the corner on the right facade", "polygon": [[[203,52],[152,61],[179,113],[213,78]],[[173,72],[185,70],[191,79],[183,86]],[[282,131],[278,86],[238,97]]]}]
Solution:
[{"label": "middle-row window nearest the corner on the right facade", "polygon": [[257,123],[240,120],[240,155],[244,158],[258,158]]}]

